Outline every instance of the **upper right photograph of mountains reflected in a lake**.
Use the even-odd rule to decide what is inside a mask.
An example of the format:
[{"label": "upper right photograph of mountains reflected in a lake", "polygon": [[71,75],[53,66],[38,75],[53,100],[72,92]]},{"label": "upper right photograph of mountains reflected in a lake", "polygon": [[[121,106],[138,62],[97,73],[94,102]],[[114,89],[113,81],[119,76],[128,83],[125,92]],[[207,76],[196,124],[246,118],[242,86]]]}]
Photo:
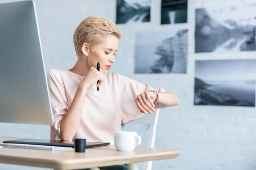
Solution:
[{"label": "upper right photograph of mountains reflected in a lake", "polygon": [[256,4],[195,10],[195,53],[255,51]]}]

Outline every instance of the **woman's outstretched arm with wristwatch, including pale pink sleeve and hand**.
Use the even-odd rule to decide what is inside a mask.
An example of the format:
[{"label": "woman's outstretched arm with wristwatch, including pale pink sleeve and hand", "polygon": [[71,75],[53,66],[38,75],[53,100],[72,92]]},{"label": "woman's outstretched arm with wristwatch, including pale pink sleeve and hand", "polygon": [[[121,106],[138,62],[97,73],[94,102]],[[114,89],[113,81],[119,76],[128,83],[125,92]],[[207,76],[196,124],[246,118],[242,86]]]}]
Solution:
[{"label": "woman's outstretched arm with wristwatch, including pale pink sleeve and hand", "polygon": [[[148,84],[143,84],[135,79],[117,75],[120,91],[120,112],[122,125],[139,119],[143,114],[153,113],[157,109],[166,108],[179,104],[177,96],[165,91],[163,88],[152,88]],[[157,95],[151,90],[158,92],[159,98],[156,104],[154,101]],[[135,100],[135,101],[134,101]]]}]

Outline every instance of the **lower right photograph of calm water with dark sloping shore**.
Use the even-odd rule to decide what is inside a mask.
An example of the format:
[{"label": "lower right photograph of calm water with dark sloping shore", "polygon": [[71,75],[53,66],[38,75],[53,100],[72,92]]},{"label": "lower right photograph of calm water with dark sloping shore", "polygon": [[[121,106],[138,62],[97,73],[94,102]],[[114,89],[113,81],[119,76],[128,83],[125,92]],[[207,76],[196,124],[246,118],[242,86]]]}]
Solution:
[{"label": "lower right photograph of calm water with dark sloping shore", "polygon": [[256,59],[195,62],[194,105],[255,107]]}]

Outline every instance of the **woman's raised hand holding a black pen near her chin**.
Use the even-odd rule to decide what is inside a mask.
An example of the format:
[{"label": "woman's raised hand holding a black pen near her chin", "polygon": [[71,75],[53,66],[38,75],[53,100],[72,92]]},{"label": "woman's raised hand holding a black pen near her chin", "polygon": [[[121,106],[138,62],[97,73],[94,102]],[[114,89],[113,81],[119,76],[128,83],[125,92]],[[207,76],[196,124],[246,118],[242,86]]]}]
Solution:
[{"label": "woman's raised hand holding a black pen near her chin", "polygon": [[87,75],[84,77],[83,81],[80,83],[80,86],[82,88],[86,88],[86,90],[88,88],[91,88],[98,80],[98,84],[97,87],[102,85],[102,82],[105,79],[105,74],[102,72],[102,70],[100,69],[99,71],[94,68],[91,67],[90,71],[87,73]]}]

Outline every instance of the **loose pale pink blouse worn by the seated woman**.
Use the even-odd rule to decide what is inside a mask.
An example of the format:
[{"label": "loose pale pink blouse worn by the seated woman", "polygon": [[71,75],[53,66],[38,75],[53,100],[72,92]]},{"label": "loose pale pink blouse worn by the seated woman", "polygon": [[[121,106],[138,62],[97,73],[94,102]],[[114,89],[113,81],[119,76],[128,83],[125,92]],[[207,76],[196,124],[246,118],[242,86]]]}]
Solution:
[{"label": "loose pale pink blouse worn by the seated woman", "polygon": [[[60,140],[61,119],[67,113],[84,76],[66,69],[52,69],[47,74],[47,78],[54,117],[50,139]],[[154,88],[134,79],[116,73],[107,73],[99,91],[96,89],[96,84],[87,90],[81,122],[73,139],[84,138],[91,142],[113,144],[114,132],[122,130],[121,124],[125,125],[144,115],[137,108],[135,99],[138,94],[151,89]],[[164,92],[163,88],[159,88],[159,92]],[[157,103],[155,109],[158,108],[165,106]]]}]

